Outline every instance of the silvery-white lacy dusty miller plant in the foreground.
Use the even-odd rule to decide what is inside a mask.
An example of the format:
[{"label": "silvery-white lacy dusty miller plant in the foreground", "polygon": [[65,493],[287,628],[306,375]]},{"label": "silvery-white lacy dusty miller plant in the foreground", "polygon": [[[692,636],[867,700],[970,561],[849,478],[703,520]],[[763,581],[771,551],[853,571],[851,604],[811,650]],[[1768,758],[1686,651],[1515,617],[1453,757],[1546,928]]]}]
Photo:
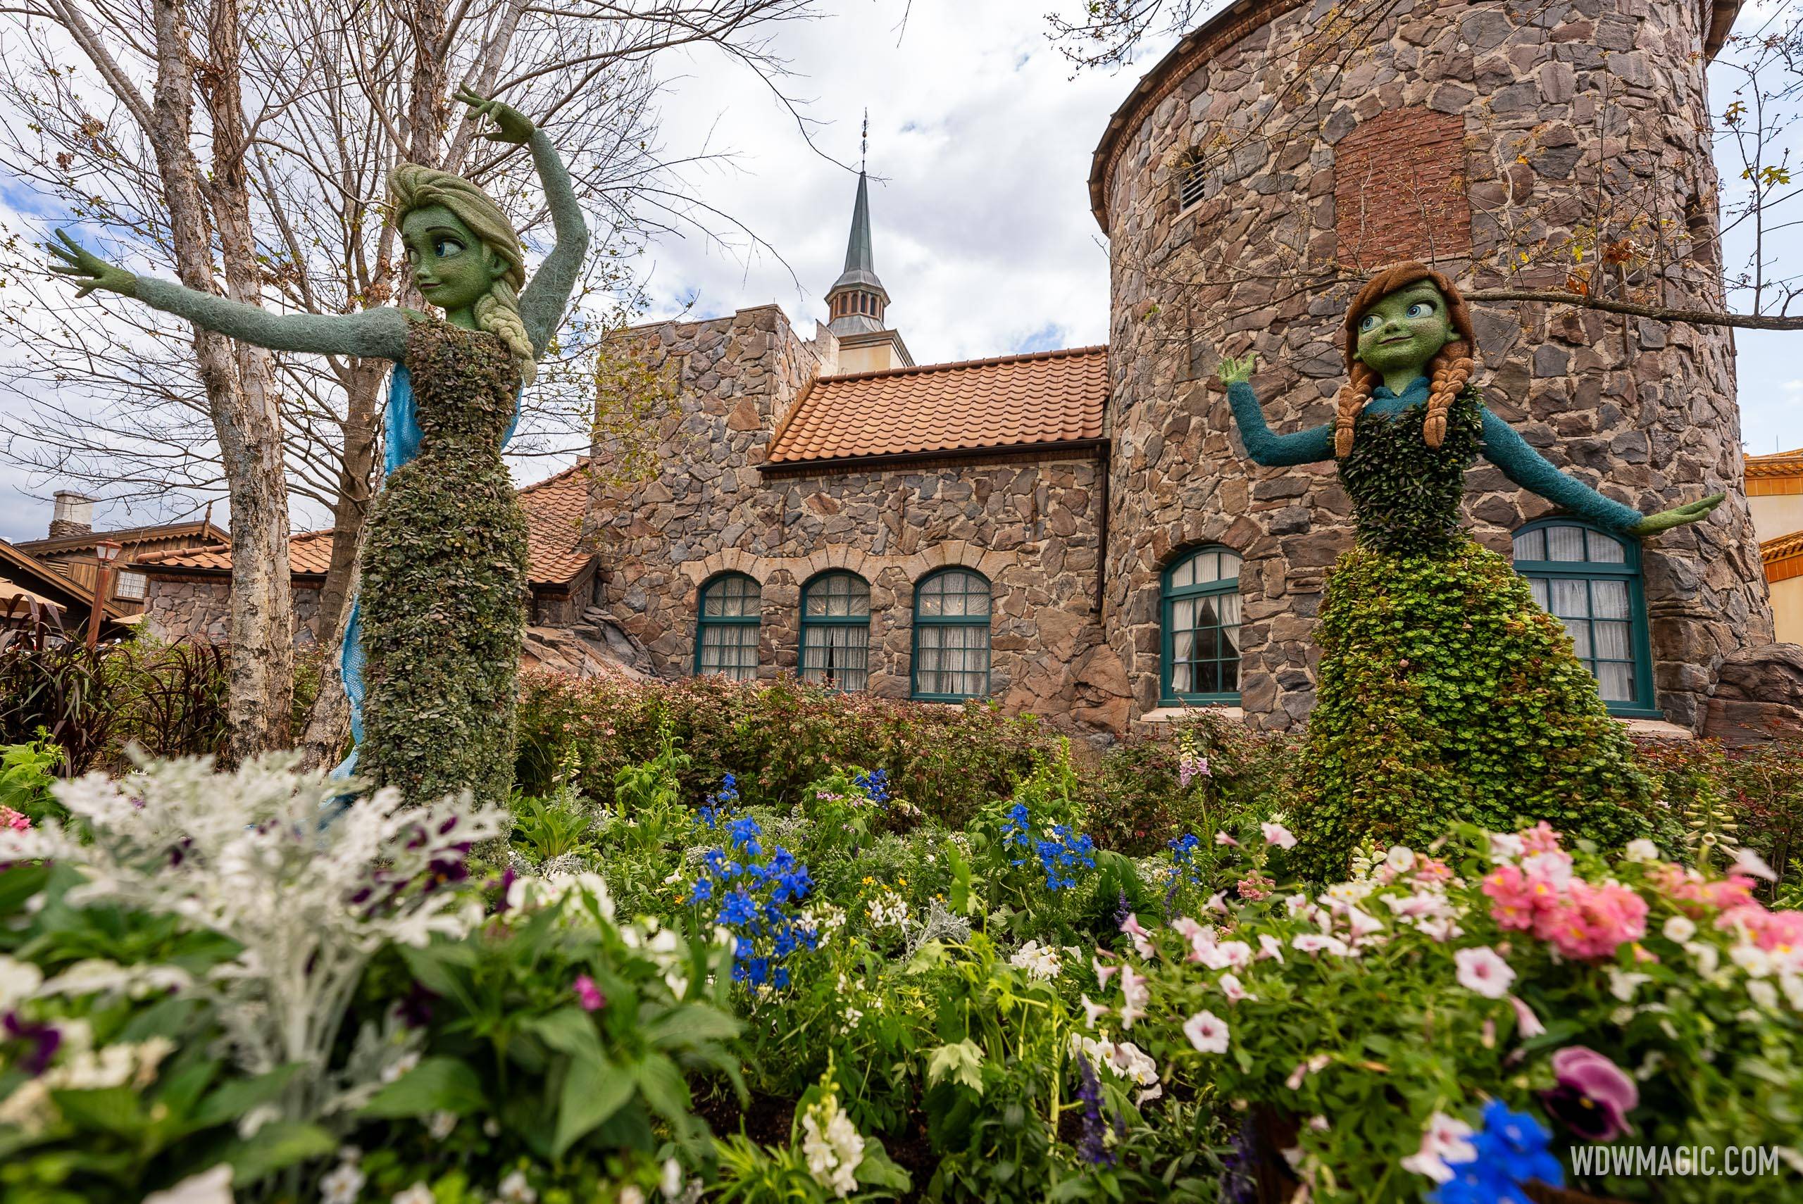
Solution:
[{"label": "silvery-white lacy dusty miller plant in the foreground", "polygon": [[[480,919],[454,890],[433,887],[471,844],[507,831],[498,807],[406,807],[393,789],[326,818],[344,782],[294,766],[294,753],[274,753],[229,773],[207,759],[124,779],[90,773],[56,788],[88,844],[54,822],[0,831],[0,863],[56,860],[83,872],[72,905],[119,901],[236,941],[238,959],[193,990],[220,1004],[227,1045],[252,1074],[299,1063],[317,1076],[377,950],[462,935]],[[316,1089],[290,1103],[308,1110]]]}]

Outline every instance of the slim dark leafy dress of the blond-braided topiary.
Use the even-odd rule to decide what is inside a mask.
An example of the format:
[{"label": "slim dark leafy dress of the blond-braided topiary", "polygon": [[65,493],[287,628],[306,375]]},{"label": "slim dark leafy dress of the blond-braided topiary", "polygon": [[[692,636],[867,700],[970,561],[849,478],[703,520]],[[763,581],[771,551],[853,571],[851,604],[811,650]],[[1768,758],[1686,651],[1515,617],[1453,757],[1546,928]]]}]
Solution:
[{"label": "slim dark leafy dress of the blond-braided topiary", "polygon": [[411,800],[505,802],[526,521],[499,447],[519,369],[494,335],[442,321],[409,328],[407,369],[424,440],[370,515],[359,771]]}]

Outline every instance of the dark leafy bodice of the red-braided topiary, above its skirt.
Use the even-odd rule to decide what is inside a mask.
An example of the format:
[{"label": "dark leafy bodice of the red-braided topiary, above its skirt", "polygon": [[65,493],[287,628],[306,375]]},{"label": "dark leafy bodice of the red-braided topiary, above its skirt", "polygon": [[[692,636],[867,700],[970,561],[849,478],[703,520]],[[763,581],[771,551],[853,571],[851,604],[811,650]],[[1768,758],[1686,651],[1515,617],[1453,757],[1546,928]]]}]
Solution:
[{"label": "dark leafy bodice of the red-braided topiary, above its skirt", "polygon": [[1446,411],[1446,438],[1421,438],[1423,406],[1399,415],[1358,416],[1352,452],[1340,460],[1340,483],[1354,499],[1358,541],[1377,552],[1444,548],[1459,537],[1464,470],[1478,452],[1484,416],[1477,389]]}]

